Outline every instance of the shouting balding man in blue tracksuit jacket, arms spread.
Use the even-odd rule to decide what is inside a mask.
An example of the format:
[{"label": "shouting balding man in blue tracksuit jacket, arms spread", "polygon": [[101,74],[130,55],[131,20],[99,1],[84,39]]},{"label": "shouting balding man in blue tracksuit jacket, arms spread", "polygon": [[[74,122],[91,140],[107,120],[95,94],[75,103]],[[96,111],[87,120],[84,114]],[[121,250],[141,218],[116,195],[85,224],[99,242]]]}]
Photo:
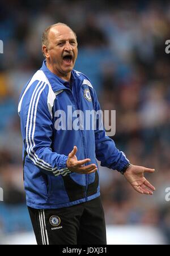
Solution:
[{"label": "shouting balding man in blue tracksuit jacket, arms spread", "polygon": [[155,190],[143,176],[154,169],[130,165],[99,122],[95,130],[73,129],[74,111],[100,110],[90,80],[73,69],[77,46],[66,24],[46,28],[45,61],[19,100],[24,186],[37,244],[106,244],[96,158],[139,193]]}]

